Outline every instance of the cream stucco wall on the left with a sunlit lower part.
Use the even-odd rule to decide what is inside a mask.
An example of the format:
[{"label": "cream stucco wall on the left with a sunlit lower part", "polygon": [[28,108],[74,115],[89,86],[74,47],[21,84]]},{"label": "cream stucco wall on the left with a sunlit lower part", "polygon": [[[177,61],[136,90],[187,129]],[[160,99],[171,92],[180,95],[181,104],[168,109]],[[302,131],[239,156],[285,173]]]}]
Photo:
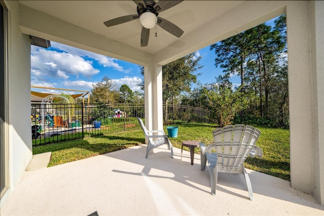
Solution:
[{"label": "cream stucco wall on the left with a sunlit lower part", "polygon": [[30,128],[30,40],[19,27],[17,2],[6,2],[8,13],[9,190],[17,186],[32,158]]}]

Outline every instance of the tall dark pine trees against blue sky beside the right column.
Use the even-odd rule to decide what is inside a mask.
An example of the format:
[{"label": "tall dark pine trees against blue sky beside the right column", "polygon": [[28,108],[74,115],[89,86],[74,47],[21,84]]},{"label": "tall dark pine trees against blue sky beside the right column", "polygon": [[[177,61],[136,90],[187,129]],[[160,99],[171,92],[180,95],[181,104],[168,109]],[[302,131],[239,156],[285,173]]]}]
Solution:
[{"label": "tall dark pine trees against blue sky beside the right column", "polygon": [[[267,125],[289,122],[285,88],[288,86],[286,16],[278,17],[274,23],[274,28],[263,23],[211,46],[216,54],[215,65],[224,68],[220,78],[225,82],[219,84],[228,85],[226,78],[237,74],[241,79],[240,91],[249,98],[249,106],[241,112],[239,123],[246,123],[249,118]],[[282,121],[279,110],[285,113],[285,117],[281,115]]]}]

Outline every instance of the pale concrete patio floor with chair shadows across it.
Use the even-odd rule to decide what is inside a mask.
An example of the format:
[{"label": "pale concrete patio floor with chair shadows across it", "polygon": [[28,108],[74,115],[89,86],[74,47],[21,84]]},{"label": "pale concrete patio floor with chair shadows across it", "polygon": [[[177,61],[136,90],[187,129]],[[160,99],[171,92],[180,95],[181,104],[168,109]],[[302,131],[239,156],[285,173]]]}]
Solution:
[{"label": "pale concrete patio floor with chair shadows across it", "polygon": [[167,146],[145,159],[146,145],[58,166],[26,171],[1,215],[324,215],[324,206],[290,182],[248,170],[254,201],[243,175],[219,173],[210,193],[209,169],[190,154]]}]

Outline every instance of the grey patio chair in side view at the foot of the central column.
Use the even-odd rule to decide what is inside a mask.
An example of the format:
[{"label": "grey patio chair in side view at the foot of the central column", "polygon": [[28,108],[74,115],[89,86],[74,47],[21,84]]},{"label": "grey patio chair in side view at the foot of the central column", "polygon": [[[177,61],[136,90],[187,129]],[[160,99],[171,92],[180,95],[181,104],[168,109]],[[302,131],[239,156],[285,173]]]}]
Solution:
[{"label": "grey patio chair in side view at the foot of the central column", "polygon": [[[171,157],[173,158],[173,149],[172,144],[168,138],[168,136],[165,134],[164,130],[147,130],[144,126],[144,123],[142,119],[137,117],[138,122],[141,125],[141,128],[143,129],[144,135],[146,138],[148,138],[147,148],[146,148],[146,156],[147,158],[148,153],[161,145],[167,144],[168,149],[171,150]],[[154,139],[156,138],[156,139]]]}]

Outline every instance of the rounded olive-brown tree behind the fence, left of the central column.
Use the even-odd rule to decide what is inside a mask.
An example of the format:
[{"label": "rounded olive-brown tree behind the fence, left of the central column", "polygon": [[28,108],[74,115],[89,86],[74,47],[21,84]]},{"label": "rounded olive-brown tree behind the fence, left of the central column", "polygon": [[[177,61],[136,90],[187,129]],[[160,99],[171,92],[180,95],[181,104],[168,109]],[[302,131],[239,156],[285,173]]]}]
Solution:
[{"label": "rounded olive-brown tree behind the fence, left of the central column", "polygon": [[108,77],[102,78],[101,82],[93,85],[90,100],[100,103],[114,103],[118,97],[116,86]]}]

